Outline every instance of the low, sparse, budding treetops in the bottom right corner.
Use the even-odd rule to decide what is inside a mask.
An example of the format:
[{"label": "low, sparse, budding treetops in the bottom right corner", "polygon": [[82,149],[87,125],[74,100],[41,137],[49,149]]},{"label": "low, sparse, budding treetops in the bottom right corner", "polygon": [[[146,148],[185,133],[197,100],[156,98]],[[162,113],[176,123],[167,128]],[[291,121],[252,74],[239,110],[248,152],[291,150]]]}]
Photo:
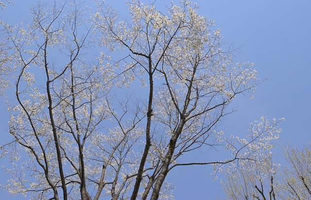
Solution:
[{"label": "low, sparse, budding treetops in the bottom right corner", "polygon": [[298,150],[284,148],[284,167],[270,153],[263,162],[250,161],[226,174],[223,182],[228,200],[307,200],[311,198],[311,144]]}]

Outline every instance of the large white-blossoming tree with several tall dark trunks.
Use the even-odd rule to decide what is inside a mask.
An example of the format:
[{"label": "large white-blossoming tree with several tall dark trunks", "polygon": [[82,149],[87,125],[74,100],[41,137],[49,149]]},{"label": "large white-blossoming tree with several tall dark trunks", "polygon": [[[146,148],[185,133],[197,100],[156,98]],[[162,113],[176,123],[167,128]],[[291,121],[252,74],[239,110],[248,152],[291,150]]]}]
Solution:
[{"label": "large white-blossoming tree with several tall dark trunks", "polygon": [[[216,174],[233,161],[259,160],[258,150],[272,147],[278,120],[262,117],[247,139],[217,131],[232,113],[229,103],[252,97],[259,80],[253,64],[233,64],[231,50],[222,50],[212,20],[186,0],[166,15],[154,4],[128,6],[131,19],[122,21],[101,2],[89,18],[77,1],[38,3],[32,22],[4,27],[17,69],[17,101],[8,108],[14,140],[2,146],[13,163],[9,192],[54,200],[168,199],[165,179],[173,168],[214,165]],[[147,94],[135,90],[138,84]],[[232,155],[182,159],[204,146]]]}]

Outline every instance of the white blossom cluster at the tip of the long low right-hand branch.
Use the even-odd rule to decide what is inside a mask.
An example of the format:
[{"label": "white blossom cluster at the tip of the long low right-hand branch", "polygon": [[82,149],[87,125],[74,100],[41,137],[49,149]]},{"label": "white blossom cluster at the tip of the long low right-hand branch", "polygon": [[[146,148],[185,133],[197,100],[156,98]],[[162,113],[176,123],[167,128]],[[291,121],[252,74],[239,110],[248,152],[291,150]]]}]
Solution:
[{"label": "white blossom cluster at the tip of the long low right-hand branch", "polygon": [[[274,147],[273,141],[276,140],[282,130],[278,127],[281,119],[272,121],[261,117],[261,121],[250,124],[249,134],[246,138],[231,135],[225,137],[223,132],[215,133],[217,141],[225,145],[225,150],[231,150],[234,159],[230,161],[227,172],[234,173],[235,170],[247,168],[249,171],[256,171],[258,163],[265,163],[271,157],[271,148]],[[253,163],[249,165],[249,163]],[[214,167],[215,172],[218,167]],[[237,167],[239,166],[239,167]],[[263,165],[264,166],[264,165]],[[219,170],[218,170],[219,171]]]}]

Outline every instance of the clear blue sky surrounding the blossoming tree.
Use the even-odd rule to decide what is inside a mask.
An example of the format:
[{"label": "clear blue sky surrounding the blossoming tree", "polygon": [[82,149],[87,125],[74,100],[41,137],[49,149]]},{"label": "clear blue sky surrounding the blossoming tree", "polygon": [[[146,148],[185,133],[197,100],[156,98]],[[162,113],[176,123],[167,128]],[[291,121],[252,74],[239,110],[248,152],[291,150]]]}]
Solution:
[{"label": "clear blue sky surrounding the blossoming tree", "polygon": [[[44,1],[44,0],[43,0]],[[35,0],[14,0],[14,6],[0,10],[2,20],[24,21],[28,5]],[[89,1],[91,2],[91,1]],[[125,0],[106,0],[121,14],[127,13]],[[142,0],[142,2],[146,2]],[[177,0],[173,1],[178,3]],[[232,102],[237,112],[225,117],[221,130],[225,133],[244,134],[251,122],[260,119],[285,117],[281,124],[280,143],[290,142],[302,147],[311,140],[311,1],[310,0],[193,0],[199,14],[215,20],[216,28],[226,42],[241,46],[235,62],[255,63],[258,76],[267,78],[257,88],[255,99],[240,97]],[[86,4],[88,0],[86,0]],[[156,0],[157,4],[170,4],[170,0]],[[1,103],[3,98],[0,99]],[[7,133],[8,115],[0,106],[0,144],[10,140]],[[276,148],[276,155],[281,149]],[[195,156],[208,156],[199,152]],[[213,155],[215,156],[215,155]],[[216,155],[217,156],[217,155]],[[0,166],[6,163],[0,159]],[[176,200],[224,199],[220,179],[212,181],[211,167],[192,166],[172,170],[168,180],[177,188]],[[0,184],[8,177],[0,171]],[[7,198],[0,189],[0,197]]]}]

